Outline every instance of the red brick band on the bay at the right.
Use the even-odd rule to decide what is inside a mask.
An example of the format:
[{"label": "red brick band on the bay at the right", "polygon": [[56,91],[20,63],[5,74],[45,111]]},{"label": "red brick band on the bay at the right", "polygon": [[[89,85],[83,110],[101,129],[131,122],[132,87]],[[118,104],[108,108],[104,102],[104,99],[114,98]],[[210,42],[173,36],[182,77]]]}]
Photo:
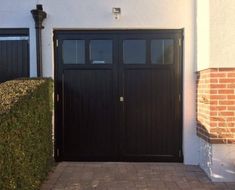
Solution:
[{"label": "red brick band on the bay at the right", "polygon": [[197,72],[197,135],[210,143],[235,143],[235,68]]}]

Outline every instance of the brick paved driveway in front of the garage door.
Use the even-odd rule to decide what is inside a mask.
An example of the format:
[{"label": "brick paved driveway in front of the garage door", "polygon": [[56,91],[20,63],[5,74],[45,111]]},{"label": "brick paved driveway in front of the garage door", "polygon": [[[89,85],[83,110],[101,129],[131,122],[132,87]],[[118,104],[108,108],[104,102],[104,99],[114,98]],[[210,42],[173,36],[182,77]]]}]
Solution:
[{"label": "brick paved driveway in front of the garage door", "polygon": [[226,189],[235,183],[212,183],[197,166],[179,163],[62,162],[41,190]]}]

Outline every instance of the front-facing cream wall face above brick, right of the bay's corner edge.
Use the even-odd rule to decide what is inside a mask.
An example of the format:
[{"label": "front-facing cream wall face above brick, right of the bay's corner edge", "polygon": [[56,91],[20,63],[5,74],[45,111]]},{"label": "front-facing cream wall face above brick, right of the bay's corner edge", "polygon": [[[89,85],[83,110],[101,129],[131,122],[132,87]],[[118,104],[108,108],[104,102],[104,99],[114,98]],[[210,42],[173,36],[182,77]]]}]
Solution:
[{"label": "front-facing cream wall face above brick, right of the bay's corner edge", "polygon": [[210,66],[235,68],[235,1],[210,0]]}]

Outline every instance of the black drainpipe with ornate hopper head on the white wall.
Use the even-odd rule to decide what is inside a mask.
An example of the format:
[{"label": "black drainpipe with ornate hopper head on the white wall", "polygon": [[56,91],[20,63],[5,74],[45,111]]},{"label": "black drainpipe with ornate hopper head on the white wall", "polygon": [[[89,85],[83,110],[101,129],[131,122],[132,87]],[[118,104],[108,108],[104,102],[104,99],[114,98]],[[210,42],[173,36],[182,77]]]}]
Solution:
[{"label": "black drainpipe with ornate hopper head on the white wall", "polygon": [[37,51],[37,77],[42,77],[42,26],[47,13],[43,11],[42,5],[37,5],[36,9],[31,10],[36,29],[36,51]]}]

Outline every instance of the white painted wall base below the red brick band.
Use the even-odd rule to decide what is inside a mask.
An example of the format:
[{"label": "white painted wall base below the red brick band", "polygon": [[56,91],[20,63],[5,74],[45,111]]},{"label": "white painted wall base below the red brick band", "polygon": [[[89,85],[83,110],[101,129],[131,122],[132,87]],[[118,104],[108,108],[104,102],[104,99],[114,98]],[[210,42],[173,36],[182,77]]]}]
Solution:
[{"label": "white painted wall base below the red brick band", "polygon": [[215,182],[235,181],[235,144],[210,144],[200,139],[200,167]]}]

